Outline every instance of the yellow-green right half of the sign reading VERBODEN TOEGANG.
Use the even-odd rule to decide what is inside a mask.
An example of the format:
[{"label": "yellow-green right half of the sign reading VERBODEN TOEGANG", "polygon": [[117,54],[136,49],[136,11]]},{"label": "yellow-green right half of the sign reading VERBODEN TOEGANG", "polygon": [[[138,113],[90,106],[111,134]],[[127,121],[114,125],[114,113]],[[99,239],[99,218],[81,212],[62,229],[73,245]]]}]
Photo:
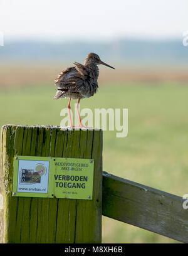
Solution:
[{"label": "yellow-green right half of the sign reading VERBODEN TOEGANG", "polygon": [[91,199],[93,194],[93,160],[54,158],[53,195],[58,198]]}]

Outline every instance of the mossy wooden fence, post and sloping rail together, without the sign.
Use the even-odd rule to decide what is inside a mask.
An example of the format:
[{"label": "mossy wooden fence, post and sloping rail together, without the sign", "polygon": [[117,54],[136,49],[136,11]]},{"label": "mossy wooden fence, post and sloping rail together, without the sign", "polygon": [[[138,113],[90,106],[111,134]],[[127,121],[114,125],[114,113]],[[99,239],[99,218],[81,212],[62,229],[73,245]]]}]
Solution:
[{"label": "mossy wooden fence, post and sloping rail together, without the sign", "polygon": [[[4,125],[1,153],[1,242],[100,243],[102,215],[188,242],[182,198],[102,173],[101,130]],[[93,200],[13,197],[15,155],[94,159]]]}]

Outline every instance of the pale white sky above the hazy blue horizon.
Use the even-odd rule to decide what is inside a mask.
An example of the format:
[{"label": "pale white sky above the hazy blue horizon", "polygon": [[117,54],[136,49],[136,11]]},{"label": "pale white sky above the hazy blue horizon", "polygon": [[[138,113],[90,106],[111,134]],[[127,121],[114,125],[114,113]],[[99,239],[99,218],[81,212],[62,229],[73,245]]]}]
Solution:
[{"label": "pale white sky above the hazy blue horizon", "polygon": [[187,0],[0,0],[4,40],[182,39]]}]

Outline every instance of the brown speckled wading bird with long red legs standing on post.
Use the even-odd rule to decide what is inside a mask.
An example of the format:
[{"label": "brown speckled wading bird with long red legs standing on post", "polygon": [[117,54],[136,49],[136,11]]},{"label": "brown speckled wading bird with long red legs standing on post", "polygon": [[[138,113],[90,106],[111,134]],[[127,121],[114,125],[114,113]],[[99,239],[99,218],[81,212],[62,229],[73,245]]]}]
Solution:
[{"label": "brown speckled wading bird with long red legs standing on post", "polygon": [[88,55],[86,55],[84,65],[78,62],[73,62],[73,64],[75,67],[66,68],[61,71],[58,78],[55,79],[57,92],[54,99],[58,100],[62,98],[69,98],[68,113],[70,116],[71,127],[75,126],[73,126],[73,122],[71,120],[70,102],[71,99],[78,99],[76,110],[80,120],[80,127],[85,127],[81,122],[79,112],[80,100],[83,98],[89,98],[97,92],[97,79],[99,75],[98,65],[102,64],[109,68],[113,67],[100,60],[100,57],[96,53],[88,53]]}]

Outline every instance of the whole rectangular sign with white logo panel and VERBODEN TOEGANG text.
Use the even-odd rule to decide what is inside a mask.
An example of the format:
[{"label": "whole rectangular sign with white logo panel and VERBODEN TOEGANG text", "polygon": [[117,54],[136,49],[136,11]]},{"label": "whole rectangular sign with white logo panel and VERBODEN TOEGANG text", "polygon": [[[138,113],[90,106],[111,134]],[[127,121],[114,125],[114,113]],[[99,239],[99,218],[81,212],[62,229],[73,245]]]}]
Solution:
[{"label": "whole rectangular sign with white logo panel and VERBODEN TOEGANG text", "polygon": [[92,200],[93,159],[14,156],[13,196]]}]

